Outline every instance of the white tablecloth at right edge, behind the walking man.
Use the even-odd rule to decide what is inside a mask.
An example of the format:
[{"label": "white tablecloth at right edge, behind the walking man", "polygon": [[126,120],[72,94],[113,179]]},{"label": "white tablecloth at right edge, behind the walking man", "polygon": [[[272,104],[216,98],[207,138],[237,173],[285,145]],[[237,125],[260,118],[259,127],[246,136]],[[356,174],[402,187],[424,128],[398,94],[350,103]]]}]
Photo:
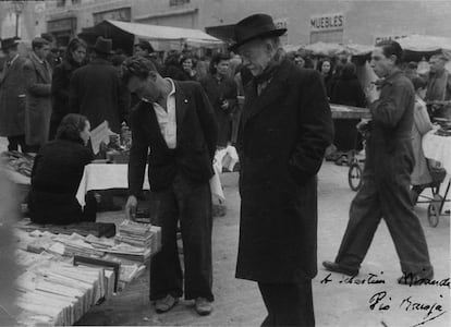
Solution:
[{"label": "white tablecloth at right edge, behind the walking man", "polygon": [[431,130],[423,136],[425,157],[441,164],[448,174],[451,174],[451,136],[439,136]]}]

